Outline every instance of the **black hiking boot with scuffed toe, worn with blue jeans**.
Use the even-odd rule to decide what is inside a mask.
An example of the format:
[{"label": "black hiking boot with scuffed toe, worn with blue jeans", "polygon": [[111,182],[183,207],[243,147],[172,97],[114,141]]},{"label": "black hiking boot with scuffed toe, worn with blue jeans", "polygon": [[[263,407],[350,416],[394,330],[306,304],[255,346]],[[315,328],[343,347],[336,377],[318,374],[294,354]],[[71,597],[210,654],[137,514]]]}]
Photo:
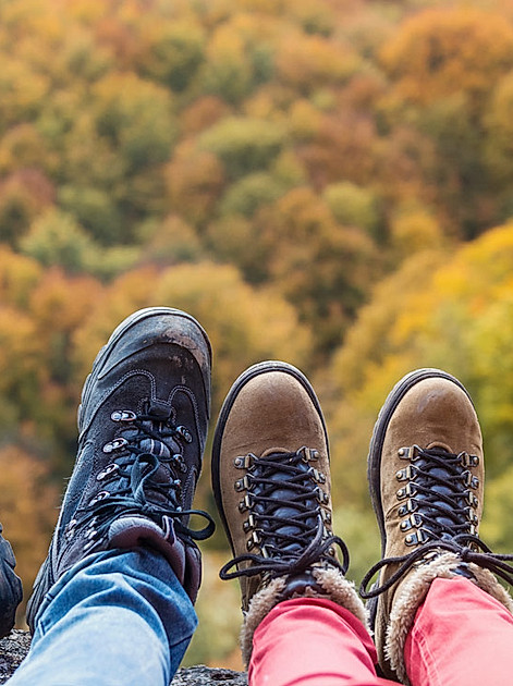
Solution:
[{"label": "black hiking boot with scuffed toe, worn with blue jeans", "polygon": [[[196,598],[195,540],[213,531],[191,510],[208,429],[210,344],[190,315],[139,310],[99,352],[78,408],[78,452],[46,562],[28,603],[34,627],[48,589],[85,555],[147,546]],[[188,527],[190,515],[207,519]]]}]

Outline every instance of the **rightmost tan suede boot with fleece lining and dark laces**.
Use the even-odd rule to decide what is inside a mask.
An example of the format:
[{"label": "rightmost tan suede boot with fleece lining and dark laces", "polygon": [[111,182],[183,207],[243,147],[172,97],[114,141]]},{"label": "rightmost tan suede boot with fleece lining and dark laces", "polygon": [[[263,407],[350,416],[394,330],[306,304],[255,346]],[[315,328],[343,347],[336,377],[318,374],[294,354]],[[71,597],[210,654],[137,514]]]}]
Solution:
[{"label": "rightmost tan suede boot with fleece lining and dark laces", "polygon": [[438,369],[405,376],[381,408],[370,442],[368,478],[382,560],[361,588],[371,599],[388,678],[407,683],[404,645],[435,578],[467,577],[513,609],[489,572],[511,583],[513,569],[504,561],[513,558],[494,555],[478,538],[484,476],[481,432],[465,388]]}]

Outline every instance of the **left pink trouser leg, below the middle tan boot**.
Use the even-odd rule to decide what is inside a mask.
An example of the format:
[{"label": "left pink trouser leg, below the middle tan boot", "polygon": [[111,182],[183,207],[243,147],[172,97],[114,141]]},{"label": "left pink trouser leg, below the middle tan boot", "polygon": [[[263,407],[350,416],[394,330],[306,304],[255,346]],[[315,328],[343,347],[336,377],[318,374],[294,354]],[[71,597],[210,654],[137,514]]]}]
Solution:
[{"label": "left pink trouser leg, below the middle tan boot", "polygon": [[296,598],[271,610],[253,639],[249,686],[387,686],[374,644],[351,612],[330,600]]}]

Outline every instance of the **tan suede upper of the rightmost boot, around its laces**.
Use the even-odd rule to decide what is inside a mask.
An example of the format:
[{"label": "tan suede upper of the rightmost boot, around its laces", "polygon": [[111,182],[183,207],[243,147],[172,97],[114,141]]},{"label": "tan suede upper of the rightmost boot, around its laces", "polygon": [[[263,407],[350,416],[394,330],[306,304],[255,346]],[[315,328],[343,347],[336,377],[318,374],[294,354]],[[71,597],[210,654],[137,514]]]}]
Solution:
[{"label": "tan suede upper of the rightmost boot, around its laces", "polygon": [[[478,499],[476,507],[480,520],[483,514],[484,461],[483,440],[476,412],[465,392],[455,383],[443,378],[420,380],[413,385],[400,401],[393,412],[387,428],[381,455],[381,503],[384,515],[387,548],[384,558],[405,555],[414,548],[405,544],[404,531],[400,523],[404,516],[399,516],[399,507],[404,501],[398,500],[398,490],[404,482],[400,482],[396,473],[407,466],[401,460],[401,448],[419,445],[424,449],[442,448],[450,453],[466,451],[479,457],[479,464],[472,467],[473,476],[479,479],[479,486],[473,490]],[[398,565],[389,564],[381,571],[380,585],[396,571]],[[386,676],[394,677],[389,669],[386,654],[387,627],[402,585],[415,568],[406,574],[389,591],[379,596],[378,612],[375,626],[375,639],[378,656]]]}]

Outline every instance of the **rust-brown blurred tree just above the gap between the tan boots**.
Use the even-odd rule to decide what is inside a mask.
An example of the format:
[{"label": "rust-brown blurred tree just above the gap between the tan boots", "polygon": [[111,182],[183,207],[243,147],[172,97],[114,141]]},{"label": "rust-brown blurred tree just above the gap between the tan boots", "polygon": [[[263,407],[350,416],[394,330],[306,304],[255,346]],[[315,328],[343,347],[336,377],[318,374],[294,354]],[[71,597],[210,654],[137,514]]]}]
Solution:
[{"label": "rust-brown blurred tree just above the gap between the tan boots", "polygon": [[358,229],[337,224],[306,187],[290,191],[258,221],[269,278],[312,327],[318,352],[327,353],[376,278],[372,242]]}]

